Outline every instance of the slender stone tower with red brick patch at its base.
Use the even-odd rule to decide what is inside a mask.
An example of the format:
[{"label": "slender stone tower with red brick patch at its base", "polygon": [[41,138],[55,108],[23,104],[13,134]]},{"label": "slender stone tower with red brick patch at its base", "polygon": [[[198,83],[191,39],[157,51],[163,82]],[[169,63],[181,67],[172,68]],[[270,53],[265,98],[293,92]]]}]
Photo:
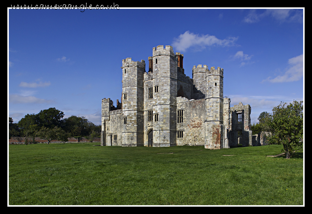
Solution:
[{"label": "slender stone tower with red brick patch at its base", "polygon": [[223,148],[223,68],[206,70],[205,148]]}]

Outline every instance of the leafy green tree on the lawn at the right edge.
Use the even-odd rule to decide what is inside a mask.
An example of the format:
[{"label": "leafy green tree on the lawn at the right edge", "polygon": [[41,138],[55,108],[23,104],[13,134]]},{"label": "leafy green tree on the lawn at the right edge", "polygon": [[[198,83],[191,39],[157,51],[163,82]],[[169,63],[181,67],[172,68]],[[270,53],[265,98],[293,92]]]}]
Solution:
[{"label": "leafy green tree on the lawn at the right edge", "polygon": [[281,102],[264,119],[265,131],[270,144],[282,144],[286,158],[291,158],[295,149],[303,149],[303,101],[295,101],[286,106]]}]

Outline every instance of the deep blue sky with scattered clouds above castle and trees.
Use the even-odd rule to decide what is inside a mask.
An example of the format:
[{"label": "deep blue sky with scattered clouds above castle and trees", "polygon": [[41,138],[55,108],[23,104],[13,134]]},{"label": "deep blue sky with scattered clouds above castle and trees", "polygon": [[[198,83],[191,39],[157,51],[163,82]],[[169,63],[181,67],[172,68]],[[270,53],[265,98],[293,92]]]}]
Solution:
[{"label": "deep blue sky with scattered clouds above castle and trees", "polygon": [[[120,5],[121,6],[121,5]],[[8,9],[8,116],[55,107],[101,123],[101,99],[121,99],[122,60],[171,45],[194,65],[224,69],[231,107],[251,123],[304,100],[303,9]]]}]

